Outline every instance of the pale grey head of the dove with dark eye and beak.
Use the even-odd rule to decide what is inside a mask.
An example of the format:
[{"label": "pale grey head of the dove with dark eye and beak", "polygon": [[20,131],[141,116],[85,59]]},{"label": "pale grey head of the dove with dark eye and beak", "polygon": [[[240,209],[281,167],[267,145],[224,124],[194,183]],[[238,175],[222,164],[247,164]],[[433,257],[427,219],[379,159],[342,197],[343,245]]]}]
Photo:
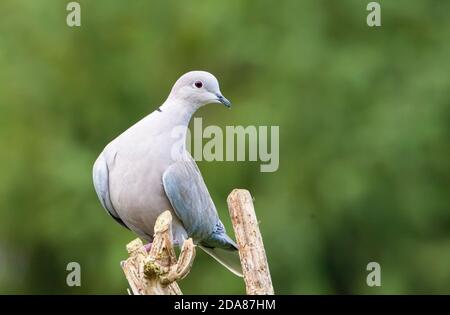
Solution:
[{"label": "pale grey head of the dove with dark eye and beak", "polygon": [[190,71],[183,74],[175,82],[169,99],[184,101],[196,108],[211,103],[231,107],[231,102],[220,92],[216,77],[206,71]]}]

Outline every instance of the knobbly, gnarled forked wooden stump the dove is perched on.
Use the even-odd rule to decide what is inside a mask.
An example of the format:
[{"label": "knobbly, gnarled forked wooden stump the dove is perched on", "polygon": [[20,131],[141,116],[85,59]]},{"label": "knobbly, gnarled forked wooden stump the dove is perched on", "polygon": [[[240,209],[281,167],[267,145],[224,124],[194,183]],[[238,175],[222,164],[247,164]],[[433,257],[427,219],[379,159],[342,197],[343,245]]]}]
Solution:
[{"label": "knobbly, gnarled forked wooden stump the dove is perched on", "polygon": [[125,276],[135,295],[182,294],[177,280],[191,270],[195,257],[192,239],[184,241],[180,256],[172,245],[172,215],[164,211],[156,220],[152,247],[149,253],[140,239],[127,245],[130,257],[121,262]]}]

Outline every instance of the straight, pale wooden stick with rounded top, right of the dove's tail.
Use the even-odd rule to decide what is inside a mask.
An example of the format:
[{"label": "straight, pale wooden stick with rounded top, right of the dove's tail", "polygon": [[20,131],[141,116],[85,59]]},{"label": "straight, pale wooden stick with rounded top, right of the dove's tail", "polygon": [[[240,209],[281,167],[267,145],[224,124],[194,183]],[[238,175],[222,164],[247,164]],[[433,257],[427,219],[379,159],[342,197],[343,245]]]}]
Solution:
[{"label": "straight, pale wooden stick with rounded top, right of the dove's tail", "polygon": [[227,202],[239,247],[247,294],[274,294],[252,196],[248,190],[234,189]]}]

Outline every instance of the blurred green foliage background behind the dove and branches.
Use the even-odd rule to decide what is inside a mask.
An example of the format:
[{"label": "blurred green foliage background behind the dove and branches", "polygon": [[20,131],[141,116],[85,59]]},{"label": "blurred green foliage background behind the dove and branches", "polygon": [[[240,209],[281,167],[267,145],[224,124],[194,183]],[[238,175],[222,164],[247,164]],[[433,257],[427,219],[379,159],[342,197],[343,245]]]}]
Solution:
[{"label": "blurred green foliage background behind the dove and branches", "polygon": [[[126,294],[92,164],[193,69],[234,103],[204,125],[280,126],[277,172],[199,163],[229,231],[253,194],[277,293],[450,293],[450,2],[380,1],[379,28],[361,0],[83,0],[80,28],[68,2],[0,2],[0,293]],[[244,293],[201,252],[181,287]]]}]

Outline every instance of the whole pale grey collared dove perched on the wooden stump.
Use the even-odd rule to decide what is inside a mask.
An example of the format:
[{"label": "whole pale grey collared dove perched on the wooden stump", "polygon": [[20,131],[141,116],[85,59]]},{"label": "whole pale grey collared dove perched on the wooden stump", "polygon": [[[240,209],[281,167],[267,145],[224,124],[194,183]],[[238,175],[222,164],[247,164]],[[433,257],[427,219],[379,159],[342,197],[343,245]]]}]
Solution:
[{"label": "whole pale grey collared dove perched on the wooden stump", "polygon": [[[237,245],[226,234],[185,146],[192,115],[210,103],[231,106],[212,74],[191,71],[181,76],[163,105],[105,147],[93,167],[94,186],[106,211],[141,238],[151,242],[156,218],[170,210],[176,245],[192,237],[206,253],[242,276]],[[175,130],[181,131],[181,145]]]}]

